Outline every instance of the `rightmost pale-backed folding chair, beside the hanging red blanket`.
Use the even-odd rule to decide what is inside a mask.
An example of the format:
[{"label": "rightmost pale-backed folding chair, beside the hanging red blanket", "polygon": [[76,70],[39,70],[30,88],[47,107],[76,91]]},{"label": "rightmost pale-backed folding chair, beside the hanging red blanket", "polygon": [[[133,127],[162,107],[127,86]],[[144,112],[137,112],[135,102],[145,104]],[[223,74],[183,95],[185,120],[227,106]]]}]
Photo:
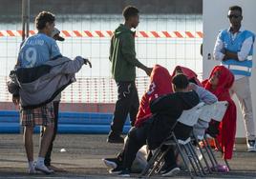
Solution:
[{"label": "rightmost pale-backed folding chair, beside the hanging red blanket", "polygon": [[[224,113],[225,113],[225,110],[227,109],[227,107],[228,107],[228,102],[227,101],[219,101],[219,102],[215,103],[212,120],[217,121],[217,122],[221,122],[224,118]],[[217,149],[220,150],[222,152],[222,154],[224,154],[224,150],[221,148],[221,146],[220,146],[220,144],[219,144],[219,142],[216,138],[210,136],[209,134],[204,135],[204,140],[206,142],[206,145],[208,146],[208,149],[210,149],[211,156],[213,157],[214,162],[216,163],[216,166],[217,166],[218,162],[216,160],[216,157],[213,154],[212,149],[209,147],[209,144],[207,142],[207,138],[215,140],[215,144],[217,145]],[[226,159],[224,159],[224,163],[225,163],[226,167],[230,170],[229,164],[228,164]]]}]

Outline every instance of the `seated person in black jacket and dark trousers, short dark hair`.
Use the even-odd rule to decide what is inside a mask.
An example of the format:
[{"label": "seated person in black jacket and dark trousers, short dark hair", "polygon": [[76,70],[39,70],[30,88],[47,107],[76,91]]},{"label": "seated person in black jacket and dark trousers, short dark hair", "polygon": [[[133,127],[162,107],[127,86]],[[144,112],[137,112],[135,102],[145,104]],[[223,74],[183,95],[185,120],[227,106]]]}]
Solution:
[{"label": "seated person in black jacket and dark trousers, short dark hair", "polygon": [[163,95],[151,102],[152,117],[141,123],[139,127],[130,129],[126,144],[118,156],[116,172],[120,176],[130,176],[133,161],[143,145],[147,143],[149,149],[160,147],[161,142],[174,128],[182,111],[192,109],[199,104],[198,94],[187,88],[189,82],[185,75],[178,74],[173,77],[172,83],[175,92]]}]

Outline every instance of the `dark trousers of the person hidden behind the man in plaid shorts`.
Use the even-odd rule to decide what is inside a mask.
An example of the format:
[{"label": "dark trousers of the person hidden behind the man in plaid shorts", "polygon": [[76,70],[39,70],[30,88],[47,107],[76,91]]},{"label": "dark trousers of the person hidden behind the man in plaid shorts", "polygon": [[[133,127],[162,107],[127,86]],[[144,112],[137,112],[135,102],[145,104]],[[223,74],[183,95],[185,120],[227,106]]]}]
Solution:
[{"label": "dark trousers of the person hidden behind the man in plaid shorts", "polygon": [[[51,165],[51,154],[53,150],[53,141],[55,140],[55,136],[57,133],[57,126],[58,126],[58,108],[59,108],[59,101],[53,101],[53,110],[54,110],[54,130],[53,130],[53,138],[50,143],[49,149],[47,150],[47,153],[45,155],[45,165],[50,166]],[[41,129],[41,137],[44,135],[45,129],[42,127]]]}]

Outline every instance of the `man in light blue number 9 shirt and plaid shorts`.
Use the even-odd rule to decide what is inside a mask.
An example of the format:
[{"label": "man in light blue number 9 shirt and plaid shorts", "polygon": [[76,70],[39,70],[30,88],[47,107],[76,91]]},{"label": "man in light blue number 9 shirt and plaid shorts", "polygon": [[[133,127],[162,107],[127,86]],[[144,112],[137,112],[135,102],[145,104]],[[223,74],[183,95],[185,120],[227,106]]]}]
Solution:
[{"label": "man in light blue number 9 shirt and plaid shorts", "polygon": [[[42,11],[35,18],[35,26],[38,33],[27,38],[21,45],[18,53],[17,65],[22,68],[33,68],[40,66],[48,60],[61,56],[55,40],[51,37],[54,29],[55,17],[51,12]],[[14,104],[19,103],[19,96],[13,96]],[[29,162],[29,173],[35,170],[44,173],[53,173],[44,164],[46,152],[53,137],[54,128],[53,103],[49,103],[36,109],[21,109],[20,120],[24,127],[24,142]],[[34,126],[44,126],[45,133],[41,140],[38,159],[33,162],[32,133]]]}]

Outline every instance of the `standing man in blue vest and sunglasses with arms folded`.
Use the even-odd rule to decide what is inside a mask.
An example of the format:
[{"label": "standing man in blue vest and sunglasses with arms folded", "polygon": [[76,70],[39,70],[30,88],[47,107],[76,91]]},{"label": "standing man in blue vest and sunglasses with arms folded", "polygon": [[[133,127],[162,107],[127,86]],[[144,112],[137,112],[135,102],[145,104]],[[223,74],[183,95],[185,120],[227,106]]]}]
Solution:
[{"label": "standing man in blue vest and sunglasses with arms folded", "polygon": [[227,17],[230,28],[219,33],[213,55],[235,75],[231,93],[236,93],[245,119],[247,149],[248,151],[256,151],[255,125],[249,87],[255,35],[249,30],[244,30],[241,26],[243,20],[241,7],[230,7]]}]

